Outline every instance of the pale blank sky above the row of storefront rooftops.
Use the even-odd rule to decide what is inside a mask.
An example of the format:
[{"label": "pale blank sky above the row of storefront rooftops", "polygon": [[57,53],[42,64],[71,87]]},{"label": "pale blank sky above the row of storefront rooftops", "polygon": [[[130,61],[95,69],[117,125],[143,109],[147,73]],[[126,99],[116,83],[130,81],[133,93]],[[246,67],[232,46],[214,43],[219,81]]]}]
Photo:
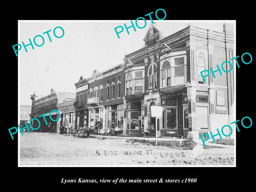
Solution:
[{"label": "pale blank sky above the row of storefront rooftops", "polygon": [[[135,22],[135,21],[133,21]],[[142,21],[143,22],[143,21]],[[154,21],[154,25],[163,36],[169,36],[188,25],[209,28],[222,32],[223,22],[227,21]],[[42,46],[35,46],[34,50],[29,45],[27,52],[24,47],[18,52],[19,60],[19,103],[31,105],[30,95],[35,92],[38,98],[50,94],[51,89],[56,92],[75,93],[74,83],[78,82],[81,75],[85,78],[92,76],[92,71],[99,72],[123,63],[125,54],[141,49],[151,21],[143,29],[135,26],[136,31],[130,28],[130,34],[125,29],[117,37],[114,28],[130,26],[129,20],[109,21],[19,21],[17,44],[29,44],[36,35],[44,37]],[[61,38],[53,35],[55,27],[62,27],[65,34]],[[143,26],[140,23],[139,26]],[[45,31],[49,31],[52,42],[49,41]],[[119,29],[118,29],[119,30]],[[62,31],[55,30],[57,36]],[[40,37],[36,38],[37,44],[42,44]],[[15,55],[15,53],[13,53]]]}]

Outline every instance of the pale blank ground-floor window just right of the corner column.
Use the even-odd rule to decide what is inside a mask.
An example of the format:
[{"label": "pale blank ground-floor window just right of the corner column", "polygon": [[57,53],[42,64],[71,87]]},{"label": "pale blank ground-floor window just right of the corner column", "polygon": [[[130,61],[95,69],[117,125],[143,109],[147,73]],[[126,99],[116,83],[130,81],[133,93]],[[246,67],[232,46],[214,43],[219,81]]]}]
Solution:
[{"label": "pale blank ground-floor window just right of the corner column", "polygon": [[208,129],[208,107],[196,106],[196,127]]}]

